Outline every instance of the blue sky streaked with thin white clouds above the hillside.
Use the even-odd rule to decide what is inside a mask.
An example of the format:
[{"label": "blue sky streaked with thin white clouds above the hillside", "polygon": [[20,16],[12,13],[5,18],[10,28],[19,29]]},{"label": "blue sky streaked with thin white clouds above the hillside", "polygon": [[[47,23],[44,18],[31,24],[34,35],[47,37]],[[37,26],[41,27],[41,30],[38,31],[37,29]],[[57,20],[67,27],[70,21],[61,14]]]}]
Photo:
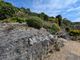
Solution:
[{"label": "blue sky streaked with thin white clouds above the hillside", "polygon": [[80,0],[4,0],[16,7],[30,8],[49,16],[62,15],[72,22],[80,22]]}]

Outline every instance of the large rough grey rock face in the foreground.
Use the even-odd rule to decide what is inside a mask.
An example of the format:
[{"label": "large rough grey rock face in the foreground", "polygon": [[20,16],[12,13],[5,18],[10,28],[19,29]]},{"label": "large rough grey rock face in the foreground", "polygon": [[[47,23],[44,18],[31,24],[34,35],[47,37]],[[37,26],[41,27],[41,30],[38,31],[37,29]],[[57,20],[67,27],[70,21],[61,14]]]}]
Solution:
[{"label": "large rough grey rock face in the foreground", "polygon": [[60,48],[61,41],[45,29],[0,30],[0,60],[43,60],[56,43]]}]

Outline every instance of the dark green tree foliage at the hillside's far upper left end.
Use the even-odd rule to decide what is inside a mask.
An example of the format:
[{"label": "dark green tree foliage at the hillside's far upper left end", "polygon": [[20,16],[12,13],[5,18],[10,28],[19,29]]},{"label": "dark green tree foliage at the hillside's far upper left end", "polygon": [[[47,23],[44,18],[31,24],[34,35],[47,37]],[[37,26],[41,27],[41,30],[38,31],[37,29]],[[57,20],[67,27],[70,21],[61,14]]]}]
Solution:
[{"label": "dark green tree foliage at the hillside's far upper left end", "polygon": [[15,13],[14,7],[12,4],[1,1],[0,2],[0,19],[3,20],[5,18],[12,17]]}]

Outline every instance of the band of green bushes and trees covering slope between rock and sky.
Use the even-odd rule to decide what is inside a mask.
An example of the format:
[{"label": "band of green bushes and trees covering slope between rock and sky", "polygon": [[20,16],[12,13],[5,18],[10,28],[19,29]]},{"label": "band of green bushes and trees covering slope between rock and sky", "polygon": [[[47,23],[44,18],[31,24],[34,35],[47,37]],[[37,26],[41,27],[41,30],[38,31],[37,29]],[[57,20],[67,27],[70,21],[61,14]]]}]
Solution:
[{"label": "band of green bushes and trees covering slope between rock and sky", "polygon": [[52,34],[65,30],[69,35],[80,35],[80,22],[71,22],[61,15],[50,17],[44,12],[31,12],[29,8],[18,8],[2,0],[0,0],[0,22],[26,23],[29,27],[46,28]]}]

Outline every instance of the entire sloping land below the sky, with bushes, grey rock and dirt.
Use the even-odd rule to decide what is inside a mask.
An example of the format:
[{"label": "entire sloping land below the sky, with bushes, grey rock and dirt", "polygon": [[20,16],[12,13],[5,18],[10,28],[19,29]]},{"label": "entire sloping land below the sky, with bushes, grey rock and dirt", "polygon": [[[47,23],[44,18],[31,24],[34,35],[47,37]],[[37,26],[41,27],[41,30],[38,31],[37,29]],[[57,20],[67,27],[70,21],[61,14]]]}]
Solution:
[{"label": "entire sloping land below the sky, with bushes, grey rock and dirt", "polygon": [[80,60],[79,42],[80,22],[0,0],[0,60]]}]

